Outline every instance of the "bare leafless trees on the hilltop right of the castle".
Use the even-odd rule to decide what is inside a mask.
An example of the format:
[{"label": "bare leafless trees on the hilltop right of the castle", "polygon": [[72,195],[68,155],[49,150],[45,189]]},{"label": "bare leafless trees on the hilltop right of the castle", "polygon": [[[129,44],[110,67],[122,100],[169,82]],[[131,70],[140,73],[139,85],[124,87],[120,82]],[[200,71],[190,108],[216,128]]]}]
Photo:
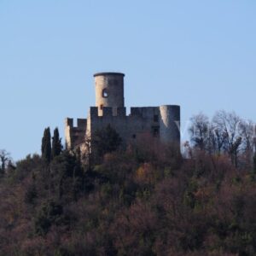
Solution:
[{"label": "bare leafless trees on the hilltop right of the castle", "polygon": [[199,113],[191,118],[189,134],[194,148],[207,154],[227,154],[236,167],[252,166],[256,146],[253,121],[225,111],[215,113],[212,120]]}]

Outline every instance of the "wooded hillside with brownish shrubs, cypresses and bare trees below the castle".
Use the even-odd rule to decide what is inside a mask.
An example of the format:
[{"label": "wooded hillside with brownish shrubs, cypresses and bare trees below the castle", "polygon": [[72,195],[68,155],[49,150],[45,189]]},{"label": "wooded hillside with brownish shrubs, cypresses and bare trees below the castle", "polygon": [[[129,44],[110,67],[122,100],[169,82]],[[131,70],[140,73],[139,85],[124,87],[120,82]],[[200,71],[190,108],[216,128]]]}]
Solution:
[{"label": "wooded hillside with brownish shrubs, cypresses and bare trees below the castle", "polygon": [[14,165],[4,151],[0,255],[255,255],[253,129],[196,115],[180,154],[149,137],[124,149],[108,126],[94,155],[46,129],[42,155]]}]

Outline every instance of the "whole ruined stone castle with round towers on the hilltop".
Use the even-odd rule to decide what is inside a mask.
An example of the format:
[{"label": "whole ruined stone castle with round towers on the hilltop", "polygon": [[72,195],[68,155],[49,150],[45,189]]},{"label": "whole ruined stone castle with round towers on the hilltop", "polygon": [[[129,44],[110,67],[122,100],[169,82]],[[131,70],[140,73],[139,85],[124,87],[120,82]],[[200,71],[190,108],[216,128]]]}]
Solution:
[{"label": "whole ruined stone castle with round towers on the hilltop", "polygon": [[90,107],[87,119],[65,119],[66,148],[84,148],[86,139],[92,141],[94,132],[110,125],[127,145],[139,137],[156,137],[162,143],[180,145],[180,107],[131,108],[126,115],[124,73],[96,73],[96,107]]}]

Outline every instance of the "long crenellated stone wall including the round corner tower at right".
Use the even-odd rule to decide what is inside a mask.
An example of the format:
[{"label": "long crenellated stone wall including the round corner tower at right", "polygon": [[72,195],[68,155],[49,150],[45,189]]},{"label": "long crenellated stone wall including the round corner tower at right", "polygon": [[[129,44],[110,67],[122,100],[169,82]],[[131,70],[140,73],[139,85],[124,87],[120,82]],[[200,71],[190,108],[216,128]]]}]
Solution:
[{"label": "long crenellated stone wall including the round corner tower at right", "polygon": [[143,134],[160,137],[163,143],[179,143],[180,109],[178,106],[131,108],[131,114],[126,115],[126,108],[117,108],[113,115],[112,108],[98,109],[91,107],[87,122],[87,136],[93,137],[96,130],[111,125],[122,137],[124,143],[129,143]]}]

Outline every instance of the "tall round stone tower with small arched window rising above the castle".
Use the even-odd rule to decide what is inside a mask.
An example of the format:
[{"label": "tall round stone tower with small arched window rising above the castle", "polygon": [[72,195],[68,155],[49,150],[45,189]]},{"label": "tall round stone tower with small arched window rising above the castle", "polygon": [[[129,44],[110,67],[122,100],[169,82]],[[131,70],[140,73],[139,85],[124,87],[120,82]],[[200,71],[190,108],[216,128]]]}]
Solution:
[{"label": "tall round stone tower with small arched window rising above the castle", "polygon": [[117,108],[125,107],[124,98],[124,73],[96,73],[96,107],[98,115],[102,115],[103,107],[113,108],[113,115]]}]

